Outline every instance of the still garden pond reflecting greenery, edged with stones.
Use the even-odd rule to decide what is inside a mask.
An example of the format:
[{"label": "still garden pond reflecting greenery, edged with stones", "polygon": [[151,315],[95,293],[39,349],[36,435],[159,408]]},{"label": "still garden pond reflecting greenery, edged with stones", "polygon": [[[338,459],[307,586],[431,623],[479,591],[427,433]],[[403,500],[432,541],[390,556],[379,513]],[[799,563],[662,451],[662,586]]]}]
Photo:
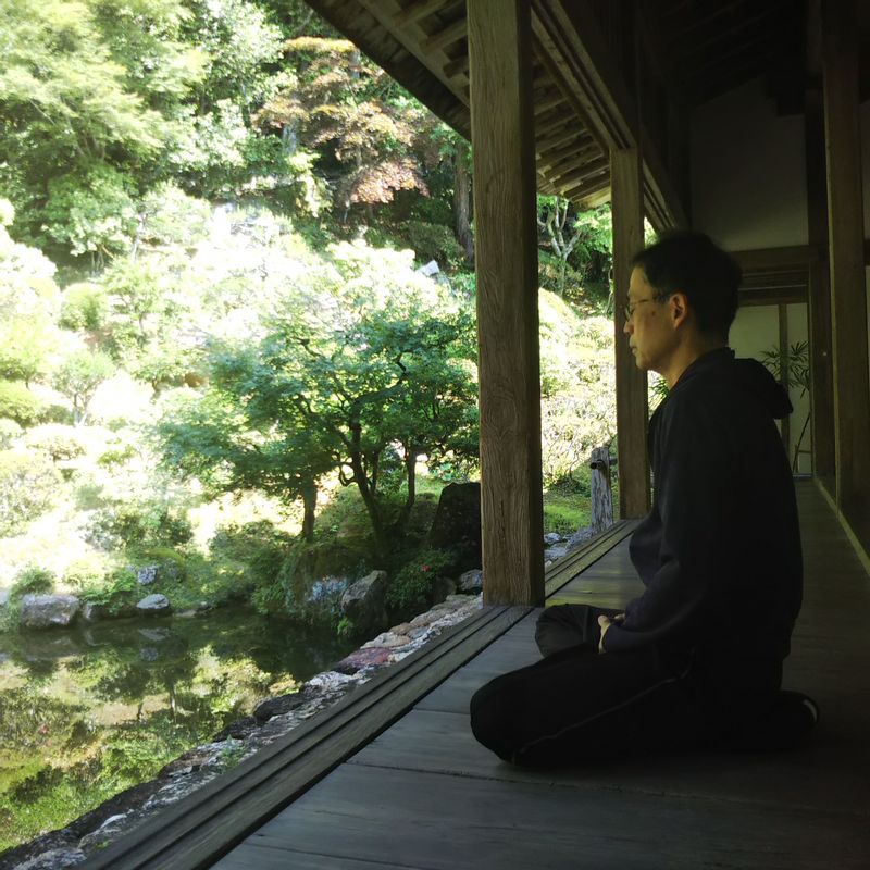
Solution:
[{"label": "still garden pond reflecting greenery, edged with stones", "polygon": [[0,852],[152,779],[351,648],[243,609],[0,634]]}]

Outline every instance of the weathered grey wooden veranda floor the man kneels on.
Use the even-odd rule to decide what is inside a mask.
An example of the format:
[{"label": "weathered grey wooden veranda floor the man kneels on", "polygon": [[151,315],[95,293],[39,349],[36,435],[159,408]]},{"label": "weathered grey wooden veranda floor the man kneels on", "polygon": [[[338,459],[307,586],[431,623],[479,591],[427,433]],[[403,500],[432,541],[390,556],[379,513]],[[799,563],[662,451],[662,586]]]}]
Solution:
[{"label": "weathered grey wooden veranda floor the man kneels on", "polygon": [[[817,484],[797,490],[806,602],[784,684],[821,706],[806,748],[559,773],[502,763],[471,735],[469,699],[536,660],[539,610],[493,606],[85,867],[863,870],[870,585]],[[549,602],[635,595],[632,525],[556,563]]]}]

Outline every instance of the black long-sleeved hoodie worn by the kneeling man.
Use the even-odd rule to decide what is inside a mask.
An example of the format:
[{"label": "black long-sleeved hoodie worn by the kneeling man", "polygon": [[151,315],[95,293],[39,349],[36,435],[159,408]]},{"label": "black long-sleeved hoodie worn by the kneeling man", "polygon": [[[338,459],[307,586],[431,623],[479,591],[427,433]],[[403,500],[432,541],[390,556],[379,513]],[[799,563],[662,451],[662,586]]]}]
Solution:
[{"label": "black long-sleeved hoodie worn by the kneeling man", "polygon": [[792,405],[755,360],[696,360],[649,424],[655,497],[631,557],[646,586],[605,635],[692,655],[710,673],[775,669],[800,610],[800,532],[774,418]]}]

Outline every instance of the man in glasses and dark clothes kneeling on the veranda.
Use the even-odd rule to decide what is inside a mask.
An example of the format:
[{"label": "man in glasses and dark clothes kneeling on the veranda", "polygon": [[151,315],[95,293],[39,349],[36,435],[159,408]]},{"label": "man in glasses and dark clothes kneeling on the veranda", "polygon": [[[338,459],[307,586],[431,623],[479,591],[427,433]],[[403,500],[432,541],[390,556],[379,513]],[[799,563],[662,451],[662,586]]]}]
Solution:
[{"label": "man in glasses and dark clothes kneeling on the veranda", "polygon": [[669,387],[649,424],[652,510],[630,547],[645,589],[624,612],[547,608],[544,658],[474,695],[474,735],[519,765],[786,747],[818,718],[809,698],[781,689],[803,584],[774,422],[792,406],[759,362],[728,347],[739,266],[693,232],[633,262],[624,332],[637,366]]}]

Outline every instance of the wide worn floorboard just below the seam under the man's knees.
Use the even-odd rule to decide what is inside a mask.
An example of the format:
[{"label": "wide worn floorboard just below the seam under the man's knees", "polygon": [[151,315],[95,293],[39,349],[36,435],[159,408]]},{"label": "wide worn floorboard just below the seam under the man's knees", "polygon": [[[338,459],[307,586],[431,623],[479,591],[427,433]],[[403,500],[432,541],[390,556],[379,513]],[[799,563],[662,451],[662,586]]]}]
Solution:
[{"label": "wide worn floorboard just below the seam under the man's knees", "polygon": [[[841,870],[867,866],[867,820],[838,813],[760,813],[755,805],[700,797],[371,772],[343,766],[251,841],[432,870],[818,870],[833,866],[832,844]],[[234,860],[244,859],[244,848]]]}]

